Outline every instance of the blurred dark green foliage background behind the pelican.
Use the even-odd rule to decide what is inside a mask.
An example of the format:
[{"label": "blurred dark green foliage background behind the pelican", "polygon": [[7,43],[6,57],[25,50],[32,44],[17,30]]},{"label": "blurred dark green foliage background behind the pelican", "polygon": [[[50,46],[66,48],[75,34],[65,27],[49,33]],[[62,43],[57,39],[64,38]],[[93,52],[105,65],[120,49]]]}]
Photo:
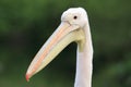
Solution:
[{"label": "blurred dark green foliage background behind the pelican", "polygon": [[26,70],[71,7],[87,10],[93,87],[131,87],[131,0],[0,0],[0,87],[73,87],[76,44],[29,83]]}]

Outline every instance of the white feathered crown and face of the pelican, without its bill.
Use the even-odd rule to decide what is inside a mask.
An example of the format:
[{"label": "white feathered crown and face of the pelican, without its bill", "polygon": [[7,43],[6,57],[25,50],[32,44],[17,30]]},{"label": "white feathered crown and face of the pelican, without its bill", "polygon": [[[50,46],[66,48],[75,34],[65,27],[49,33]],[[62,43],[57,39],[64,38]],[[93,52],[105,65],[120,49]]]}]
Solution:
[{"label": "white feathered crown and face of the pelican, without its bill", "polygon": [[68,22],[71,25],[78,25],[83,28],[87,23],[87,14],[82,8],[72,8],[62,13],[61,22]]}]

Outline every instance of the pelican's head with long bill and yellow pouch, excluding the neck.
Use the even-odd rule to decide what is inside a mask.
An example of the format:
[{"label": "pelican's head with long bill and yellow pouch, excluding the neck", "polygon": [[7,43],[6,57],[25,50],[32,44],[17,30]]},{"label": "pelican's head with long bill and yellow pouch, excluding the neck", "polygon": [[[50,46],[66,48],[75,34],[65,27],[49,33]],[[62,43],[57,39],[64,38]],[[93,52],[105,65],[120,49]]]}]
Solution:
[{"label": "pelican's head with long bill and yellow pouch, excluding the neck", "polygon": [[26,79],[28,80],[44,69],[72,41],[78,42],[80,51],[83,51],[85,44],[84,27],[87,22],[86,11],[82,8],[71,8],[64,11],[61,16],[61,24],[32,61],[26,72]]}]

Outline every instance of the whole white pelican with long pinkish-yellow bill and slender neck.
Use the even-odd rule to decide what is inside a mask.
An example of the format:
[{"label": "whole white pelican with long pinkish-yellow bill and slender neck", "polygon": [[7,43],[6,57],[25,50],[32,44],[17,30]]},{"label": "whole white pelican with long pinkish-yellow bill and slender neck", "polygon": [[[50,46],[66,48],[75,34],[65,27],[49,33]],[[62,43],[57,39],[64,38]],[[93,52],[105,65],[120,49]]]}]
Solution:
[{"label": "whole white pelican with long pinkish-yellow bill and slender neck", "polygon": [[69,44],[78,44],[74,87],[92,87],[93,45],[86,11],[70,8],[61,15],[61,24],[32,61],[26,80],[51,62]]}]

